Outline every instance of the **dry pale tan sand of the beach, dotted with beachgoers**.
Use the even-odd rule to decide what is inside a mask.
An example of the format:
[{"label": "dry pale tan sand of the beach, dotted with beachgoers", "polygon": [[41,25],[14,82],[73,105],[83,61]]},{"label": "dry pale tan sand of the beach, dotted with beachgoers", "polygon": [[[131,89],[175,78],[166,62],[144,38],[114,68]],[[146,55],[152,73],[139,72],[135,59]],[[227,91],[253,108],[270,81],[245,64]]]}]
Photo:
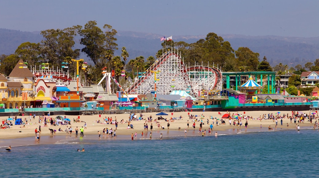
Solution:
[{"label": "dry pale tan sand of the beach, dotted with beachgoers", "polygon": [[[283,114],[288,116],[292,115],[291,111],[278,111],[280,112],[280,114],[278,114],[279,116],[282,116]],[[297,111],[296,111],[297,112]],[[305,114],[310,114],[312,112],[310,111],[302,111]],[[268,112],[268,111],[246,111],[244,112],[239,112],[239,114],[244,115],[244,116],[251,116],[254,119],[249,119],[248,121],[248,128],[247,130],[251,131],[253,129],[257,129],[260,128],[260,126],[262,126],[262,128],[267,128],[269,126],[271,126],[271,128],[275,129],[275,125],[276,122],[274,122],[272,119],[263,119],[263,120],[259,120],[257,119],[259,116],[262,116],[263,114],[267,115],[268,114],[273,114],[273,115],[277,115],[277,112],[274,113],[272,112]],[[136,113],[137,114],[137,118],[139,117],[140,113]],[[144,131],[144,123],[145,121],[147,121],[147,117],[150,117],[152,115],[153,119],[157,118],[158,116],[156,115],[157,113],[142,113],[143,114],[143,118],[144,120],[139,120],[139,121],[131,121],[130,123],[133,124],[134,129],[127,129],[128,128],[128,123],[118,123],[118,127],[116,130],[116,135],[127,135],[127,138],[130,139],[130,135],[132,133],[135,134],[135,132],[137,132],[137,134],[140,136],[141,132]],[[193,123],[194,123],[194,119],[189,119],[189,115],[197,115],[197,119],[199,119],[199,121],[195,122],[196,123],[196,129],[195,131],[199,131],[199,125],[200,125],[200,120],[203,120],[203,131],[206,130],[206,134],[208,134],[208,129],[210,124],[213,122],[214,120],[214,128],[213,128],[213,132],[218,132],[218,131],[226,131],[226,130],[230,130],[230,129],[237,129],[238,126],[229,126],[229,122],[228,119],[224,119],[226,121],[226,124],[220,124],[220,121],[218,123],[218,125],[216,125],[216,119],[221,120],[221,117],[223,114],[226,114],[226,112],[224,113],[220,113],[218,114],[218,112],[174,112],[173,115],[171,113],[167,113],[168,115],[164,115],[163,117],[166,119],[170,119],[171,117],[180,117],[182,116],[182,119],[180,120],[173,120],[173,122],[165,122],[165,120],[158,120],[159,124],[161,126],[163,126],[165,129],[163,130],[162,128],[158,129],[157,124],[154,122],[152,122],[153,125],[153,131],[168,131],[167,130],[167,123],[170,124],[169,127],[169,131],[180,131],[180,132],[184,132],[185,129],[187,129],[188,132],[192,132],[194,134],[193,131]],[[189,114],[189,115],[188,115]],[[231,115],[233,114],[233,112],[231,112]],[[234,113],[237,114],[237,113]],[[204,119],[202,119],[200,117],[200,115],[204,115]],[[129,121],[129,116],[130,114],[113,114],[113,115],[101,115],[101,117],[99,117],[99,115],[80,115],[80,121],[81,122],[73,122],[73,118],[78,118],[78,115],[66,115],[67,118],[69,118],[71,120],[71,125],[68,125],[69,127],[71,126],[73,128],[73,133],[72,136],[75,136],[75,129],[76,127],[81,128],[82,126],[84,126],[84,123],[86,122],[87,124],[87,129],[84,130],[84,134],[85,135],[97,135],[98,131],[101,132],[101,134],[103,135],[102,131],[104,128],[113,128],[113,130],[115,129],[115,124],[101,124],[101,123],[97,123],[96,121],[100,120],[103,121],[103,118],[105,117],[112,117],[113,120],[117,119],[118,122],[120,122],[122,119],[124,120],[124,122]],[[211,119],[212,116],[214,119]],[[317,115],[316,115],[317,116]],[[56,115],[52,115],[50,116],[52,118],[55,118]],[[18,118],[22,118],[22,120],[24,120],[26,117],[22,117],[19,116]],[[0,120],[6,120],[8,119],[8,117],[0,117]],[[37,123],[39,120],[39,116],[36,116],[35,119],[28,119],[28,124],[25,124],[25,128],[20,128],[23,125],[13,125],[12,128],[10,129],[0,129],[0,139],[11,139],[11,138],[23,138],[23,137],[33,137],[35,136],[34,130],[37,128],[39,130],[39,126],[41,125],[41,136],[49,136],[50,135],[50,130],[49,129],[53,129],[53,130],[57,130],[56,131],[56,135],[61,135],[61,136],[65,136],[67,135],[66,132],[64,132],[64,130],[66,129],[66,125],[60,125],[60,126],[50,126],[50,123],[48,123],[48,127],[44,127],[44,124],[41,123]],[[209,120],[209,125],[207,125],[207,119]],[[294,124],[293,122],[290,123],[290,119],[288,118],[283,118],[283,125],[281,126],[280,123],[281,119],[278,119],[278,125],[277,125],[277,129],[296,129],[296,124]],[[187,121],[189,121],[189,128],[187,127]],[[234,120],[232,120],[233,123]],[[241,131],[244,129],[244,123],[246,122],[245,119],[241,119],[243,125],[241,126]],[[150,125],[151,123],[146,122],[149,127],[148,127],[148,133],[150,133]],[[289,127],[287,127],[287,123],[289,125]],[[300,125],[300,128],[313,128],[313,125],[315,123],[315,119],[312,120],[312,123],[310,123],[308,120],[305,120],[304,123],[298,123],[298,125]],[[59,132],[59,128],[61,128],[63,131]],[[180,130],[179,130],[180,128]],[[20,132],[21,131],[21,132]],[[245,131],[245,130],[244,130]],[[195,133],[197,133],[195,132]],[[230,131],[231,132],[231,131]],[[78,133],[78,135],[80,135],[80,133]]]}]

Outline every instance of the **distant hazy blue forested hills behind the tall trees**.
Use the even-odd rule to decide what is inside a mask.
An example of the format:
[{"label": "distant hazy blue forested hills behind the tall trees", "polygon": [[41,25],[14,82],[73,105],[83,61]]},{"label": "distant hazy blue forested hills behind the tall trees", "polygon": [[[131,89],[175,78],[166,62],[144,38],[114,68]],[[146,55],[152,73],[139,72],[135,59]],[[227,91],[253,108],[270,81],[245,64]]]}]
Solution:
[{"label": "distant hazy blue forested hills behind the tall trees", "polygon": [[[229,41],[234,50],[237,50],[239,47],[248,47],[253,52],[260,54],[260,60],[262,60],[263,56],[266,56],[271,66],[277,65],[279,62],[284,65],[288,64],[289,67],[294,67],[297,64],[304,66],[305,63],[314,62],[315,59],[319,58],[319,37],[218,35],[223,37],[224,41]],[[122,46],[125,46],[130,54],[129,59],[137,56],[144,56],[145,58],[155,56],[161,48],[162,41],[159,38],[162,36],[154,33],[118,31],[116,38],[119,50],[115,51],[115,55],[120,55],[120,49]],[[206,34],[198,36],[173,36],[173,40],[174,42],[185,41],[187,43],[194,43],[205,37]],[[42,36],[40,32],[0,29],[0,55],[13,54],[23,42],[37,43],[41,40]],[[83,47],[77,43],[75,48]],[[81,55],[81,58],[86,58],[86,56]]]}]

